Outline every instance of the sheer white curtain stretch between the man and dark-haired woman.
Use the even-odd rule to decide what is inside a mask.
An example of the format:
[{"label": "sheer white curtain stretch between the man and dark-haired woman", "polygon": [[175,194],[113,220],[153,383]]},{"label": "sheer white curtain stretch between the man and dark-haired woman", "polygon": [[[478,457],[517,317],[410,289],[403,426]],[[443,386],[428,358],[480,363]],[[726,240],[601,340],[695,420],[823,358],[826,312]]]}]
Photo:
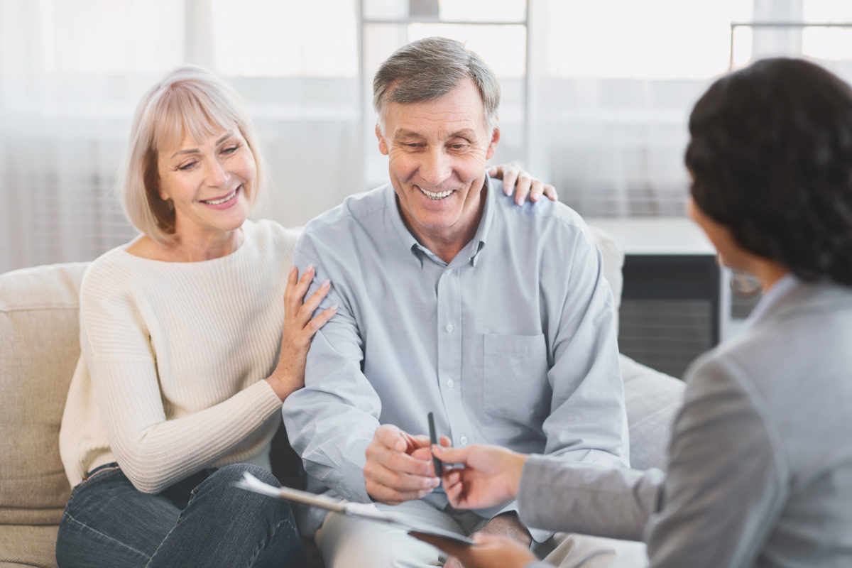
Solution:
[{"label": "sheer white curtain stretch between the man and dark-haired woman", "polygon": [[688,113],[751,2],[530,6],[530,168],[583,215],[683,215]]}]

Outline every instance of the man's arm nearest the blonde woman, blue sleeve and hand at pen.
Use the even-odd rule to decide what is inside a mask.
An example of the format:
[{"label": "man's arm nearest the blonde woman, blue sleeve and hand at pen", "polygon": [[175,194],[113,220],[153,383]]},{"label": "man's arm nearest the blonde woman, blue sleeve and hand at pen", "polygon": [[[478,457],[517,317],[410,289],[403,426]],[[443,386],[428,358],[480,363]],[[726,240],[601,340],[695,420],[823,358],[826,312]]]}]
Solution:
[{"label": "man's arm nearest the blonde woman, blue sleeve and hand at pen", "polygon": [[[337,305],[333,324],[314,336],[305,387],[285,401],[283,416],[291,445],[308,473],[350,501],[371,498],[389,504],[419,499],[440,483],[429,459],[429,438],[392,425],[379,426],[382,401],[362,372],[364,343],[350,293],[340,271],[328,274],[306,233],[296,246],[296,267],[314,266],[317,282],[331,278],[326,304]],[[329,323],[332,323],[329,322]]]}]

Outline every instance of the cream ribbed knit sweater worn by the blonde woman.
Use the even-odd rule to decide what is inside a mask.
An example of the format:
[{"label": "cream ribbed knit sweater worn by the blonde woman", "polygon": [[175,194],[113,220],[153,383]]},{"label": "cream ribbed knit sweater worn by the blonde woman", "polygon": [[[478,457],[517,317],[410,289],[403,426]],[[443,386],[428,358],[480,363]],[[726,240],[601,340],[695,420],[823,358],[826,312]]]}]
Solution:
[{"label": "cream ribbed knit sweater worn by the blonde woman", "polygon": [[262,379],[278,360],[297,233],[246,221],[233,254],[95,260],[80,289],[82,354],[60,430],[72,487],[118,462],[157,493],[202,468],[269,468],[281,401]]}]

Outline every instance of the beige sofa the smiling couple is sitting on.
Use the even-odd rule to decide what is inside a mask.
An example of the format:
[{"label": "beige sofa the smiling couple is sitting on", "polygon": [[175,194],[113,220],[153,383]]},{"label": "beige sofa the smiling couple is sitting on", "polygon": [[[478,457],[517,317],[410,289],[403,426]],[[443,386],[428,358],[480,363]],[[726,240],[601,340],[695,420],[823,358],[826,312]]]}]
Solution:
[{"label": "beige sofa the smiling couple is sitting on", "polygon": [[[623,257],[606,235],[597,238],[619,298]],[[56,566],[56,531],[71,492],[58,434],[80,351],[78,290],[87,266],[57,264],[0,275],[0,566]],[[621,363],[633,466],[664,466],[682,382],[625,356]],[[287,474],[293,456],[277,462],[282,459],[279,471]],[[311,565],[318,563],[314,552]]]}]

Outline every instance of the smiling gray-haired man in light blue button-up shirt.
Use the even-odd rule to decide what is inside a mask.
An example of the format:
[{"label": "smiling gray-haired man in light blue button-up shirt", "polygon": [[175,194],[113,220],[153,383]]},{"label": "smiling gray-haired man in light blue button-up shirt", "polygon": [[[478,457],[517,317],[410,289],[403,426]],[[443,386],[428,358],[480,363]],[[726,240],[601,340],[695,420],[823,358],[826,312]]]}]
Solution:
[{"label": "smiling gray-haired man in light blue button-up shirt", "polygon": [[[499,86],[479,56],[432,37],[391,55],[373,82],[385,186],[305,228],[296,266],[331,280],[337,316],[314,337],[306,385],[286,400],[314,491],[376,502],[423,525],[520,542],[513,502],[449,507],[427,414],[452,445],[502,445],[626,466],[613,299],[579,215],[516,207],[486,176]],[[326,565],[441,565],[383,525],[310,511]],[[321,526],[320,526],[321,525]],[[455,563],[455,559],[446,565]]]}]

